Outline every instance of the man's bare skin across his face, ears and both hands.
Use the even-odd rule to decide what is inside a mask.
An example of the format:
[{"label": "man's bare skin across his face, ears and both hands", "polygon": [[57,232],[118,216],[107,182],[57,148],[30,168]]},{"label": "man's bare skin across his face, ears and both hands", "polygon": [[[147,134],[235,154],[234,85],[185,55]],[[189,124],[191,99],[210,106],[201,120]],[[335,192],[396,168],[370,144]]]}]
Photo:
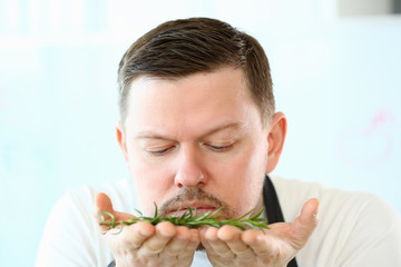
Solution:
[{"label": "man's bare skin across his face, ears and both hands", "polygon": [[[281,112],[262,123],[243,71],[226,67],[177,80],[135,80],[117,140],[146,216],[156,202],[163,215],[187,205],[200,211],[223,205],[222,216],[231,218],[262,208],[264,175],[277,165],[285,132]],[[115,211],[105,194],[96,205],[117,220],[133,217]],[[315,228],[317,206],[311,199],[295,221],[271,225],[266,234],[170,222],[139,222],[119,235],[100,230],[117,266],[190,266],[200,243],[213,266],[286,266]]]}]

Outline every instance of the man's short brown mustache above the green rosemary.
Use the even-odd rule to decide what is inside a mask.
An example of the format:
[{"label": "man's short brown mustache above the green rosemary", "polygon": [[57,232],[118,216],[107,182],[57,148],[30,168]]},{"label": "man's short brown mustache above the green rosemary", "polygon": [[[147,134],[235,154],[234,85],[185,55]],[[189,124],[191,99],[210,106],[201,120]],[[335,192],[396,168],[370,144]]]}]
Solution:
[{"label": "man's short brown mustache above the green rosemary", "polygon": [[215,208],[224,207],[222,210],[222,216],[225,218],[232,218],[234,215],[234,210],[231,208],[228,204],[221,200],[216,196],[205,192],[198,187],[185,187],[182,189],[175,197],[166,200],[162,206],[159,207],[159,215],[163,217],[166,217],[168,212],[172,211],[173,207],[180,206],[183,202],[186,201],[202,201],[205,204],[208,204]]}]

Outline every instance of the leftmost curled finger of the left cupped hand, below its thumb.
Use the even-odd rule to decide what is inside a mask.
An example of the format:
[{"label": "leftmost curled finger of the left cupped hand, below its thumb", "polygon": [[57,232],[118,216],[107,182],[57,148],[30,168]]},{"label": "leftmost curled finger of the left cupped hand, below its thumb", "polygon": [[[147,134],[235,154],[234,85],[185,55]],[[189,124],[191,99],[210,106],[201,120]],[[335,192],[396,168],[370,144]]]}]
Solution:
[{"label": "leftmost curled finger of the left cupped hand, below its thumb", "polygon": [[119,227],[109,230],[106,234],[106,240],[109,244],[121,246],[128,250],[134,251],[139,249],[143,244],[155,235],[155,227],[146,221],[140,221],[130,226]]}]

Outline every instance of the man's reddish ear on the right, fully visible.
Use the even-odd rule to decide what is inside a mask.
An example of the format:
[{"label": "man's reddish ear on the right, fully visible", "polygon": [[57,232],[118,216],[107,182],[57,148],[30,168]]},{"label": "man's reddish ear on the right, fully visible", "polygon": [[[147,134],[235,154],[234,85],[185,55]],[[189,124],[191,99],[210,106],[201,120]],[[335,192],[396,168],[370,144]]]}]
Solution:
[{"label": "man's reddish ear on the right, fully visible", "polygon": [[267,136],[267,167],[266,174],[272,172],[278,164],[280,156],[283,151],[286,135],[287,122],[285,115],[277,112],[273,116]]}]

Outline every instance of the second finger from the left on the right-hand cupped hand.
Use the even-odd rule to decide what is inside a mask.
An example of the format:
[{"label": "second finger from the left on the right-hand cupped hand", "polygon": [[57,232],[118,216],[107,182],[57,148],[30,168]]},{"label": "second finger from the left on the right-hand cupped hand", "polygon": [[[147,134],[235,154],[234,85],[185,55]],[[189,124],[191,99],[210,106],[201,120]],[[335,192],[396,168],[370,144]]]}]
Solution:
[{"label": "second finger from the left on the right-hand cupped hand", "polygon": [[254,253],[250,249],[250,246],[245,244],[241,236],[243,231],[234,226],[223,226],[218,233],[217,237],[225,241],[229,249],[239,257],[253,257]]}]

